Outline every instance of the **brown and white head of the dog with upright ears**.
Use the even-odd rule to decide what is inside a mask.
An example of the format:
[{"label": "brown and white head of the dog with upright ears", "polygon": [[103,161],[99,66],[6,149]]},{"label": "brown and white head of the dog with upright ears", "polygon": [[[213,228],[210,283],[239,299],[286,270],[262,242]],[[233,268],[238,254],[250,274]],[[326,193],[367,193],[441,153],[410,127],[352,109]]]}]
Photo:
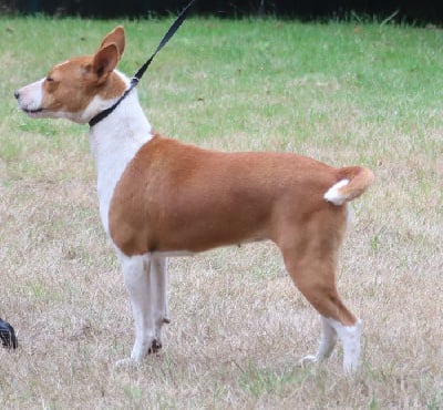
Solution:
[{"label": "brown and white head of the dog with upright ears", "polygon": [[19,107],[32,117],[86,123],[127,86],[124,76],[114,72],[124,47],[125,33],[117,27],[105,35],[95,54],[56,64],[45,78],[16,91]]}]

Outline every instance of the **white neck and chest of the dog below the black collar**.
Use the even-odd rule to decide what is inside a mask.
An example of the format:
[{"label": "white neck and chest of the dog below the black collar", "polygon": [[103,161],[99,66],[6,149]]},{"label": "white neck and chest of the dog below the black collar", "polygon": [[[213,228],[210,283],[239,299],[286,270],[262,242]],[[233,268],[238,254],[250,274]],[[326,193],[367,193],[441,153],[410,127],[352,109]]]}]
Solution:
[{"label": "white neck and chest of the dog below the black collar", "polygon": [[97,173],[100,216],[107,234],[107,212],[114,187],[127,164],[151,139],[152,127],[135,89],[109,116],[90,130],[91,151]]}]

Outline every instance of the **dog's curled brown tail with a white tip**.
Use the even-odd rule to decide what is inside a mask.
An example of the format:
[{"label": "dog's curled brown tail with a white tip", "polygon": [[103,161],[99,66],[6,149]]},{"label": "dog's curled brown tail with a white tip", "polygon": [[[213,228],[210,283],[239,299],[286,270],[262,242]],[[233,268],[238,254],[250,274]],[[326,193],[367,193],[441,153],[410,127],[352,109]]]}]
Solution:
[{"label": "dog's curled brown tail with a white tip", "polygon": [[346,166],[337,170],[338,182],[324,194],[324,199],[333,205],[359,197],[372,184],[374,175],[363,166]]}]

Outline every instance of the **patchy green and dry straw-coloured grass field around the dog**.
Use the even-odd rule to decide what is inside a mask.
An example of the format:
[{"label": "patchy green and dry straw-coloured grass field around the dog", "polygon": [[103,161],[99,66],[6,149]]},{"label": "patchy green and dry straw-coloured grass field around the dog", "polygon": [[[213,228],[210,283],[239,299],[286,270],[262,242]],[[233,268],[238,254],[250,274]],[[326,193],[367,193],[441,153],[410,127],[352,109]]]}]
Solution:
[{"label": "patchy green and dry straw-coloured grass field around the dog", "polygon": [[[443,31],[192,19],[140,84],[154,127],[226,151],[287,151],[377,175],[353,202],[339,289],[363,360],[319,368],[320,324],[271,244],[169,264],[164,349],[135,368],[123,277],[99,221],[87,127],[30,120],[13,91],[92,53],[120,21],[0,18],[2,409],[443,408]],[[169,20],[123,21],[133,74]]]}]

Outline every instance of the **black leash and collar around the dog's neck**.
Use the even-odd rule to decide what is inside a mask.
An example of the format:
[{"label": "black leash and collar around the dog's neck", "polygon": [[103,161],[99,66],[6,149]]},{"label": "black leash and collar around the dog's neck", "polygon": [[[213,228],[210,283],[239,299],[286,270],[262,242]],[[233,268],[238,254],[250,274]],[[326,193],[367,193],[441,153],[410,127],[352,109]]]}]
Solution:
[{"label": "black leash and collar around the dog's neck", "polygon": [[96,123],[100,121],[104,120],[107,115],[110,115],[117,106],[119,104],[126,98],[126,95],[138,84],[138,81],[142,79],[143,74],[145,73],[146,69],[150,66],[152,61],[154,60],[155,55],[157,55],[158,51],[161,51],[166,43],[171,40],[171,38],[175,34],[175,32],[178,30],[178,28],[182,25],[182,23],[185,21],[189,9],[193,7],[193,4],[197,0],[190,0],[189,3],[182,10],[182,12],[178,14],[178,17],[175,19],[173,24],[169,27],[169,30],[167,30],[166,34],[163,37],[162,41],[159,42],[157,49],[154,51],[154,53],[146,60],[146,62],[138,69],[138,71],[134,74],[134,76],[131,80],[130,88],[123,93],[123,95],[109,109],[100,112],[96,114],[94,117],[91,119],[89,122],[90,126],[94,126]]}]

